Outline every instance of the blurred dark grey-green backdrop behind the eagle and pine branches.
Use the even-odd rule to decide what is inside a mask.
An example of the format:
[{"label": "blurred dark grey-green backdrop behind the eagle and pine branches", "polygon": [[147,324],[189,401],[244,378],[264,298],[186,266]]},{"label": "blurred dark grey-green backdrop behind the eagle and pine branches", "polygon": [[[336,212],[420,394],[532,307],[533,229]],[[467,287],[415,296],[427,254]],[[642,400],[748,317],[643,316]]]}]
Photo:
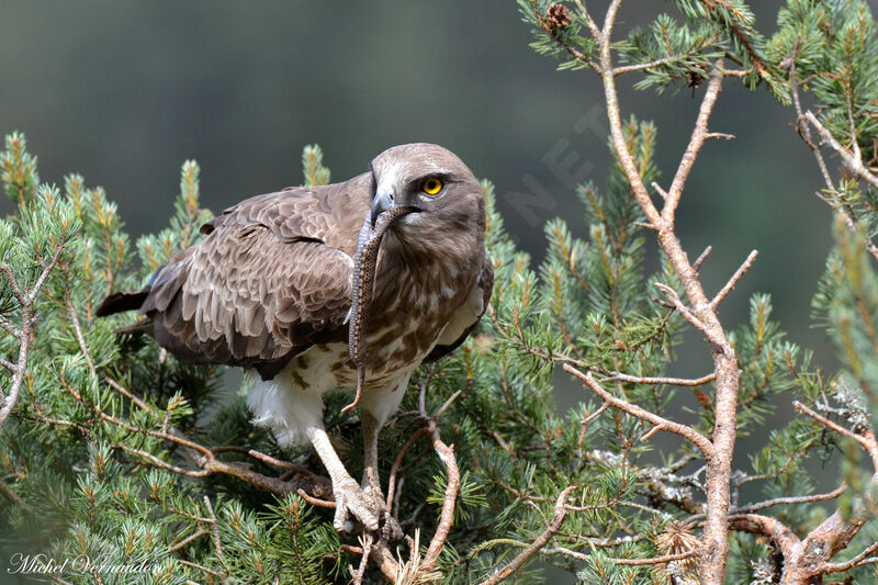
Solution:
[{"label": "blurred dark grey-green backdrop behind the eagle and pine branches", "polygon": [[[780,3],[754,2],[766,34]],[[563,215],[585,235],[573,181],[601,184],[610,162],[598,79],[533,54],[511,0],[3,0],[0,10],[0,132],[26,134],[44,180],[75,171],[103,185],[134,236],[166,225],[188,158],[218,212],[297,184],[305,144],[319,143],[344,180],[389,146],[435,142],[494,181],[507,228],[538,260],[545,220]],[[626,2],[617,29],[664,10]],[[656,97],[632,91],[633,80],[622,83],[623,112],[657,123],[666,185],[702,90]],[[753,292],[769,292],[790,337],[831,365],[809,318],[830,212],[792,122],[765,90],[727,82],[711,128],[738,138],[705,148],[677,225],[690,258],[713,246],[709,292],[761,252],[723,304],[727,327],[746,319]],[[685,370],[703,373],[703,345],[689,347]]]}]

